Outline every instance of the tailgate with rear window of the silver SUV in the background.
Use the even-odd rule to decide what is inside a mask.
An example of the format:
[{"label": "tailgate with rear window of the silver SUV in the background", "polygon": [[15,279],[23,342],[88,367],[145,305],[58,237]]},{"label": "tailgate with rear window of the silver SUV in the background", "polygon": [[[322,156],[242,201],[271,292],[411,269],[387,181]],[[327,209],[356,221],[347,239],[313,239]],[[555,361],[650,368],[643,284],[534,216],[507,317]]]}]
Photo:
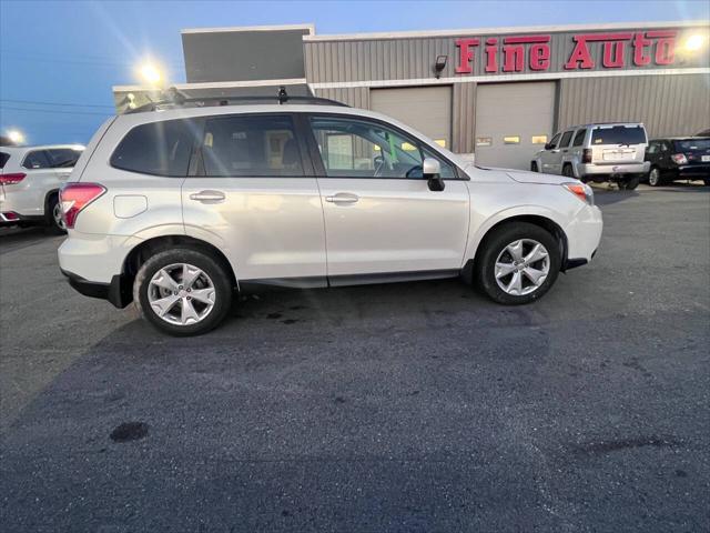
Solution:
[{"label": "tailgate with rear window of the silver SUV in the background", "polygon": [[602,124],[591,130],[591,162],[638,164],[646,157],[646,129],[641,124]]}]

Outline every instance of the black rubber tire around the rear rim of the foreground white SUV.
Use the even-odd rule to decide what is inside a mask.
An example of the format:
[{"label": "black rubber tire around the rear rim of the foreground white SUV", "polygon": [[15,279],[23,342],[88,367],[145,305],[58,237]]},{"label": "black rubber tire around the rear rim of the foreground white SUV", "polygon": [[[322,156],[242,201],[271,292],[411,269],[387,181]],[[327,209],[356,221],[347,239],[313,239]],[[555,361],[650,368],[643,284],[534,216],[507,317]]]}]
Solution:
[{"label": "black rubber tire around the rear rim of the foreground white SUV", "polygon": [[[169,323],[160,318],[149,303],[151,279],[159,270],[175,263],[196,266],[210,278],[214,286],[214,306],[196,323]],[[158,330],[175,336],[201,335],[216,328],[230,311],[232,294],[232,276],[221,262],[209,253],[191,249],[179,248],[155,253],[141,265],[133,282],[133,301],[141,315]]]}]

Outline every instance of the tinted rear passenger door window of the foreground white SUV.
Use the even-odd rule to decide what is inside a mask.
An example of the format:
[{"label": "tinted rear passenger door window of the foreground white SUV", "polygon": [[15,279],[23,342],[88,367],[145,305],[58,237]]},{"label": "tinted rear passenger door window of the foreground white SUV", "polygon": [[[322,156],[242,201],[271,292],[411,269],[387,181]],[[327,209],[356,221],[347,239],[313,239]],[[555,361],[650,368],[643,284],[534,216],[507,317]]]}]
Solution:
[{"label": "tinted rear passenger door window of the foreground white SUV", "polygon": [[202,140],[206,175],[304,175],[291,117],[225,117],[207,120]]}]

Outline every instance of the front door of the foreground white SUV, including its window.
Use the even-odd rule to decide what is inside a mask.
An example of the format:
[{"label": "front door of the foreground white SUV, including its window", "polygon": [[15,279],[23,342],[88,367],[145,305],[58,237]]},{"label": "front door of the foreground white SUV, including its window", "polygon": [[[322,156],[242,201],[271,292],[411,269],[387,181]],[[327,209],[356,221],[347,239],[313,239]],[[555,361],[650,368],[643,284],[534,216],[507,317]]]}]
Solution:
[{"label": "front door of the foreground white SUV, including its window", "polygon": [[[469,222],[467,182],[432,148],[379,121],[312,115],[312,153],[321,167],[327,272],[358,274],[456,271]],[[422,174],[436,158],[446,179],[430,191]],[[321,163],[317,164],[317,163]]]}]

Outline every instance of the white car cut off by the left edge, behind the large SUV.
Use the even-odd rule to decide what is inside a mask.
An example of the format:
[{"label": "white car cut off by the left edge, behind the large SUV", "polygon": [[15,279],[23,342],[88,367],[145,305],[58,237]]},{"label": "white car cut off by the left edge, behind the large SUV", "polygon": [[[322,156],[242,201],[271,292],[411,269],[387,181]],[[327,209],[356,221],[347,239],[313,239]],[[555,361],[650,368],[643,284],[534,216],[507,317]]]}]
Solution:
[{"label": "white car cut off by the left edge, behind the large SUV", "polygon": [[65,231],[59,189],[84,147],[0,147],[0,225],[45,224]]}]

